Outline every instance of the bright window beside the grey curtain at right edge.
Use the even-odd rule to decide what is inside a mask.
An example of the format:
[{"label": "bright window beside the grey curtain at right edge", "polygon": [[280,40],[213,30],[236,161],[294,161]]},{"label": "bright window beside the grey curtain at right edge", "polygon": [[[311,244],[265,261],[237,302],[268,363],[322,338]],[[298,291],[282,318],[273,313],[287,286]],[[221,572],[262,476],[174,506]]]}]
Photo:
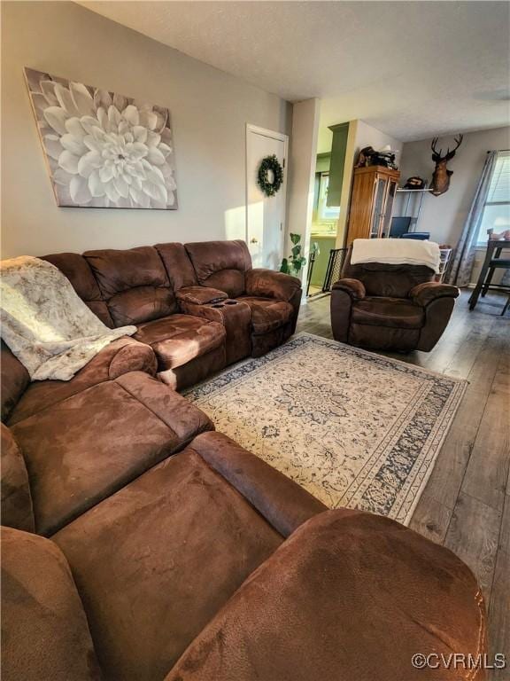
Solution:
[{"label": "bright window beside the grey curtain at right edge", "polygon": [[478,245],[487,243],[487,230],[510,230],[510,152],[498,152],[491,186],[478,229]]}]

